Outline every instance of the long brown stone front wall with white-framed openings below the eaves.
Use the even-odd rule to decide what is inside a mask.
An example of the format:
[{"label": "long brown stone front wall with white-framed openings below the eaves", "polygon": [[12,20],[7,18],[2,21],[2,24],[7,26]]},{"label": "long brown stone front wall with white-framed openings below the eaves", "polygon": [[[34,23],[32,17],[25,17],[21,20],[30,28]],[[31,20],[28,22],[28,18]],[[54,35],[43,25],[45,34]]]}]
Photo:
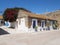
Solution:
[{"label": "long brown stone front wall with white-framed openings below the eaves", "polygon": [[[44,20],[44,19],[38,19],[38,18],[29,18],[29,30],[34,30],[35,31],[35,28],[33,28],[33,21],[36,21],[36,26],[37,26],[37,29],[38,31],[40,30],[55,30],[53,29],[53,20]],[[49,22],[47,22],[49,21]],[[42,26],[42,23],[43,26]]]}]

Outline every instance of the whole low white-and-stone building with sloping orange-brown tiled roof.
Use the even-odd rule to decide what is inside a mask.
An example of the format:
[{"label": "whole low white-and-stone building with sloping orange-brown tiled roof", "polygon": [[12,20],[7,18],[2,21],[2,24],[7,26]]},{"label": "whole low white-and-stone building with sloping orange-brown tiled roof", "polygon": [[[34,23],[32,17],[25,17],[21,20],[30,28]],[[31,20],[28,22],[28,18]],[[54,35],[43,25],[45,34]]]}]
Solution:
[{"label": "whole low white-and-stone building with sloping orange-brown tiled roof", "polygon": [[33,14],[31,12],[27,12],[25,10],[19,10],[17,16],[18,17],[16,21],[8,21],[8,27],[14,27],[17,30],[22,30],[26,32],[57,29],[57,21],[45,15],[38,15]]}]

